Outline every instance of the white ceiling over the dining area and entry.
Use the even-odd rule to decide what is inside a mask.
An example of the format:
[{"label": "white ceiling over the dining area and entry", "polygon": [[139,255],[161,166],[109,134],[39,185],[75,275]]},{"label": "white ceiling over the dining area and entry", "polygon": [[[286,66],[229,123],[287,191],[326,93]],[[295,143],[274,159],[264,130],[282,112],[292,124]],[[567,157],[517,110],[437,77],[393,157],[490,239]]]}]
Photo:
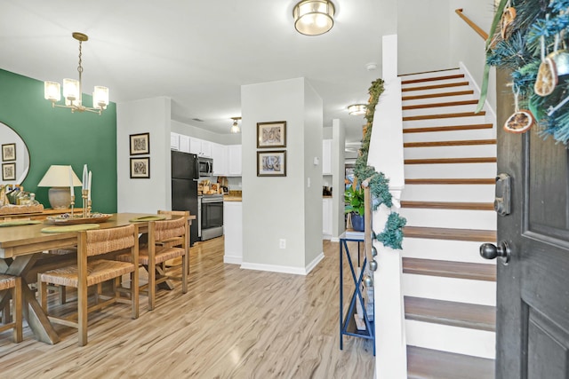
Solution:
[{"label": "white ceiling over the dining area and entry", "polygon": [[[71,33],[80,31],[89,36],[84,92],[108,86],[116,103],[170,97],[173,120],[217,133],[241,115],[241,85],[303,76],[324,100],[324,126],[339,118],[357,141],[365,120],[346,107],[366,103],[381,77],[381,17],[389,15],[378,0],[333,2],[333,29],[302,36],[295,0],[2,0],[0,68],[42,81],[76,78]],[[369,62],[378,68],[368,71]]]}]

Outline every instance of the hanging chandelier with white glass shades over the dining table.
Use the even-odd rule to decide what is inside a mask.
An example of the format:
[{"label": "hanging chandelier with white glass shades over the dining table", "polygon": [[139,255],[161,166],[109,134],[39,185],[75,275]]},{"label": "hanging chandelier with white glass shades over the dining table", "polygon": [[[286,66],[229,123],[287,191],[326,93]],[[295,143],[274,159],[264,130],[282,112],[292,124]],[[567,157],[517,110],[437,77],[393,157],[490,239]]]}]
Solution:
[{"label": "hanging chandelier with white glass shades over the dining table", "polygon": [[63,79],[63,97],[65,98],[65,105],[56,104],[61,99],[61,86],[57,82],[44,82],[44,98],[52,102],[52,107],[63,107],[70,108],[71,112],[92,112],[96,114],[101,114],[103,109],[107,109],[108,106],[108,88],[101,87],[99,85],[95,86],[92,92],[92,107],[84,107],[83,105],[83,94],[81,87],[81,75],[83,74],[82,62],[82,51],[81,47],[84,41],[88,41],[89,37],[83,33],[74,32],[71,36],[79,41],[79,66],[77,71],[79,72],[79,80],[75,79]]}]

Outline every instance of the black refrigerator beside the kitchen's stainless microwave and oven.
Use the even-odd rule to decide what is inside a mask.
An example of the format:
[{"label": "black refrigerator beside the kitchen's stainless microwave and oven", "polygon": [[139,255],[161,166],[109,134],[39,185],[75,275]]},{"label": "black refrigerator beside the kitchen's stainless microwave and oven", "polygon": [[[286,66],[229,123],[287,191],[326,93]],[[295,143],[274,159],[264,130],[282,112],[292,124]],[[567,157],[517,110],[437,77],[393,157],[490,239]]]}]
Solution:
[{"label": "black refrigerator beside the kitchen's stainless microwave and oven", "polygon": [[172,151],[172,210],[189,210],[196,216],[190,227],[190,245],[197,241],[197,180],[199,166],[196,154]]}]

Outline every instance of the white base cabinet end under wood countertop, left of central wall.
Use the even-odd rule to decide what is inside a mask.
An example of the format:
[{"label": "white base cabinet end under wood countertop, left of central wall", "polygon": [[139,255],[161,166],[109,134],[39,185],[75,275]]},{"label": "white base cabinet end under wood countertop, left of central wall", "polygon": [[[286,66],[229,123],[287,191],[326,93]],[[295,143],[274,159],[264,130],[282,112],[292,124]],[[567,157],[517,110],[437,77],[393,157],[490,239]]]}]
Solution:
[{"label": "white base cabinet end under wood countertop, left of central wall", "polygon": [[243,261],[243,207],[241,201],[223,201],[223,263],[241,265]]}]

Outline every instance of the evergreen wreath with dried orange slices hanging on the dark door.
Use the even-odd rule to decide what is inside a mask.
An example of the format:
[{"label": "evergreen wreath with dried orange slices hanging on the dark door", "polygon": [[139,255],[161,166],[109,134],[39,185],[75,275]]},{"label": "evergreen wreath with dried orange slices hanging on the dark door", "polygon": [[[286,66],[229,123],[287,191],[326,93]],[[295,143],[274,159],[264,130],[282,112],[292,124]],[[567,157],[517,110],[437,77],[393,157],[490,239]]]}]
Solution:
[{"label": "evergreen wreath with dried orange slices hanging on the dark door", "polygon": [[[505,130],[523,133],[537,125],[543,138],[567,145],[568,32],[569,0],[501,0],[486,41],[485,74],[490,66],[512,70],[515,112]],[[484,82],[483,89],[486,75]]]}]

